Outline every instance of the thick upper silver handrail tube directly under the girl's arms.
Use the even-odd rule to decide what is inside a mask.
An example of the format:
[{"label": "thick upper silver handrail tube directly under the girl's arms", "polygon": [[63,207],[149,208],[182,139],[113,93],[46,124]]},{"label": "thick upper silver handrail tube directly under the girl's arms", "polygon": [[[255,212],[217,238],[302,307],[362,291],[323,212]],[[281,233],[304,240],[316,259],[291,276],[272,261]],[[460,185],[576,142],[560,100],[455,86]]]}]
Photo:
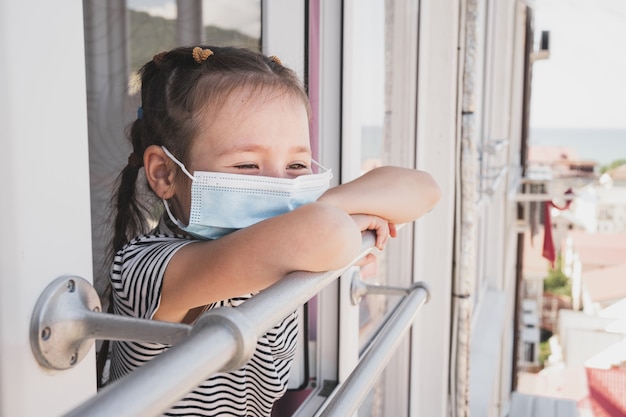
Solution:
[{"label": "thick upper silver handrail tube directly under the girl's arms", "polygon": [[208,311],[187,338],[65,416],[151,417],[162,413],[210,375],[246,362],[258,337],[370,253],[374,243],[374,233],[365,233],[361,253],[342,269],[293,272],[238,307]]}]

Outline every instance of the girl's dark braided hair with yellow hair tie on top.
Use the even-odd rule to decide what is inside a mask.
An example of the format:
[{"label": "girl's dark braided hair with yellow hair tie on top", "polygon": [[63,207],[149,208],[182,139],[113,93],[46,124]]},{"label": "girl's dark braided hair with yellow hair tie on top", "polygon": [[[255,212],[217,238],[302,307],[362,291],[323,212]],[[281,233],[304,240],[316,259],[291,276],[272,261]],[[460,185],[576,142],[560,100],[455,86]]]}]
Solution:
[{"label": "girl's dark braided hair with yellow hair tie on top", "polygon": [[133,153],[118,178],[114,197],[113,253],[146,231],[150,208],[138,198],[136,183],[148,146],[165,146],[186,163],[192,139],[205,127],[202,110],[219,108],[235,90],[288,94],[302,99],[309,111],[307,94],[292,70],[276,57],[246,49],[176,48],[155,55],[141,68],[140,76],[141,107],[129,135]]}]

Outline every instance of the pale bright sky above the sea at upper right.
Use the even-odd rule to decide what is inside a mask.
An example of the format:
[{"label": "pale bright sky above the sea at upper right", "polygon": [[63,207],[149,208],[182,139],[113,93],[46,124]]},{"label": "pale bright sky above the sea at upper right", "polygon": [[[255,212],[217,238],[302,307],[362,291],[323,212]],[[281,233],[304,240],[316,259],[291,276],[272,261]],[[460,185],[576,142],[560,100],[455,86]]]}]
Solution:
[{"label": "pale bright sky above the sea at upper right", "polygon": [[626,129],[626,0],[535,0],[534,9],[550,57],[533,65],[531,127]]}]

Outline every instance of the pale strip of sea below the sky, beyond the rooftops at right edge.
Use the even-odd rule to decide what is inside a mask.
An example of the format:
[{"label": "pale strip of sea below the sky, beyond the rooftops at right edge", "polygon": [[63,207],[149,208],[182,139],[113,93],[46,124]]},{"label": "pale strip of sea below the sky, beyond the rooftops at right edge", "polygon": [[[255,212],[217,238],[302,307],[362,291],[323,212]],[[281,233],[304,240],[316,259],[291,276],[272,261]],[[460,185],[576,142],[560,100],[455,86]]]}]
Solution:
[{"label": "pale strip of sea below the sky, beyond the rooftops at right edge", "polygon": [[626,160],[626,129],[531,127],[529,146],[563,146],[600,166]]}]

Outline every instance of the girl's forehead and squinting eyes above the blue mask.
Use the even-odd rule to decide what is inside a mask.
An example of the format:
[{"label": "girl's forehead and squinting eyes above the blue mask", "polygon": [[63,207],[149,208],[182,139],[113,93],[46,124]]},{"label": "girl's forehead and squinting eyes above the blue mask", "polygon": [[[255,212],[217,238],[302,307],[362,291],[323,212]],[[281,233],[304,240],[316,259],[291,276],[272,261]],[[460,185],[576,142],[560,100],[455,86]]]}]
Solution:
[{"label": "girl's forehead and squinting eyes above the blue mask", "polygon": [[192,143],[193,171],[294,178],[311,174],[309,120],[300,98],[275,91],[236,91],[204,111]]}]

